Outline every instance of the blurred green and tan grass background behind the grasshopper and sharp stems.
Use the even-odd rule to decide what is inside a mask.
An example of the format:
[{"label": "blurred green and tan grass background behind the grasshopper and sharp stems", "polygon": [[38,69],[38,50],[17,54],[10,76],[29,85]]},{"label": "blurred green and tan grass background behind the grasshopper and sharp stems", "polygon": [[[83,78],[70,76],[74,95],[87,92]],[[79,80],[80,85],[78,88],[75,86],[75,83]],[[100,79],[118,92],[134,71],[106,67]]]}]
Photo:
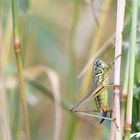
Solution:
[{"label": "blurred green and tan grass background behind the grasshopper and sharp stems", "polygon": [[[129,37],[130,8],[128,2],[125,39]],[[19,0],[18,10],[31,139],[109,139],[108,121],[100,125],[96,118],[77,116],[69,110],[92,87],[91,74],[77,78],[88,60],[100,57],[109,63],[114,59],[116,1]],[[0,90],[6,93],[0,97],[1,113],[5,114],[0,119],[8,122],[5,133],[20,140],[23,117],[11,14],[11,0],[0,0]],[[110,43],[103,46],[109,38]],[[127,48],[128,42],[124,42],[123,58]],[[5,130],[1,127],[0,131],[2,139]]]}]

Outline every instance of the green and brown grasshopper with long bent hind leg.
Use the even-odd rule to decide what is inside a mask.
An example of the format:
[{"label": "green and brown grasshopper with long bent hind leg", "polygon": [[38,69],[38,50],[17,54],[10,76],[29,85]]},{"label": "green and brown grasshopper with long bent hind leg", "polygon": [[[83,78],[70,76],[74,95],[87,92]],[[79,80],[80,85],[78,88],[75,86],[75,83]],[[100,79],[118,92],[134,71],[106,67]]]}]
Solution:
[{"label": "green and brown grasshopper with long bent hind leg", "polygon": [[[117,56],[116,58],[118,58],[119,56]],[[95,61],[93,65],[94,86],[89,91],[89,93],[71,109],[72,112],[78,112],[84,115],[101,118],[100,124],[105,119],[115,120],[115,119],[111,119],[112,110],[109,109],[109,105],[108,105],[108,96],[109,96],[108,87],[114,86],[113,84],[109,83],[109,73],[112,70],[114,61],[111,64],[107,64],[101,59],[97,59]],[[95,99],[97,110],[81,111],[80,108],[92,99]],[[87,112],[99,112],[102,113],[103,116],[90,115],[87,114]],[[110,113],[110,118],[107,117],[108,112]]]}]

